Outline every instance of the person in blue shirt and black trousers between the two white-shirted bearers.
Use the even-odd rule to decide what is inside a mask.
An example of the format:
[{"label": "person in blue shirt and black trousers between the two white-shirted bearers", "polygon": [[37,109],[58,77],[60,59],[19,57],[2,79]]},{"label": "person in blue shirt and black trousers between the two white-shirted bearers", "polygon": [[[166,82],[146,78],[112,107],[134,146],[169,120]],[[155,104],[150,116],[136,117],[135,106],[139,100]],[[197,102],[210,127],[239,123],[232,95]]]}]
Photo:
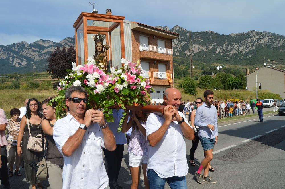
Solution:
[{"label": "person in blue shirt and black trousers between the two white-shirted bearers", "polygon": [[108,126],[115,136],[117,148],[115,151],[109,151],[103,148],[104,155],[108,164],[108,177],[110,189],[121,189],[122,187],[118,185],[117,179],[119,176],[119,171],[122,164],[124,144],[127,144],[127,139],[125,133],[118,132],[119,122],[121,117],[123,117],[123,109],[112,109],[114,122],[108,122]]}]

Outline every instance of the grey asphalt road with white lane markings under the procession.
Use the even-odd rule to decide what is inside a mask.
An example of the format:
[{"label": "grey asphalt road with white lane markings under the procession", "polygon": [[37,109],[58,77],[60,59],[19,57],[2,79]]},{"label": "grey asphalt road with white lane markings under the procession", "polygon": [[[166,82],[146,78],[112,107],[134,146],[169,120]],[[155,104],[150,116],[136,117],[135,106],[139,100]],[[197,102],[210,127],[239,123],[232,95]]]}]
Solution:
[{"label": "grey asphalt road with white lane markings under the procession", "polygon": [[[283,127],[282,127],[283,126]],[[285,188],[284,186],[284,160],[285,160],[285,117],[278,115],[266,115],[264,122],[258,122],[258,118],[250,117],[243,120],[220,123],[219,140],[214,148],[214,157],[211,164],[215,172],[209,175],[216,184],[196,182],[194,172],[203,160],[201,145],[195,153],[195,167],[189,166],[186,175],[188,188],[219,188],[219,189],[262,189]],[[256,138],[254,138],[256,137]],[[253,139],[252,139],[253,138]],[[186,140],[187,161],[192,141]],[[124,188],[130,188],[131,175],[128,169],[127,146],[122,161],[119,175],[119,184]],[[31,188],[26,182],[24,170],[23,176],[13,176],[9,179],[11,189]],[[141,178],[143,175],[141,173]],[[42,182],[44,189],[49,187],[47,181]],[[3,186],[0,186],[0,189]],[[144,188],[143,180],[139,188]],[[166,184],[165,188],[170,188]]]}]

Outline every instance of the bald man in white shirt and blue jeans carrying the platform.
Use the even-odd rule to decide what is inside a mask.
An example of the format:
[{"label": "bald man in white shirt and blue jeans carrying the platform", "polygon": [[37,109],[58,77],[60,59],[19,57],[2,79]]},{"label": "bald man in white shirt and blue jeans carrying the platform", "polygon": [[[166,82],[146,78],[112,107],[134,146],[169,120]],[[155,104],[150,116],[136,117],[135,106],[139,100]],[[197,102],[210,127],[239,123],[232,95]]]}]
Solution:
[{"label": "bald man in white shirt and blue jeans carrying the platform", "polygon": [[194,138],[194,130],[182,112],[178,111],[181,94],[168,88],[163,94],[164,115],[151,113],[146,121],[146,136],[150,144],[147,177],[150,189],[186,189],[188,173],[184,137]]}]

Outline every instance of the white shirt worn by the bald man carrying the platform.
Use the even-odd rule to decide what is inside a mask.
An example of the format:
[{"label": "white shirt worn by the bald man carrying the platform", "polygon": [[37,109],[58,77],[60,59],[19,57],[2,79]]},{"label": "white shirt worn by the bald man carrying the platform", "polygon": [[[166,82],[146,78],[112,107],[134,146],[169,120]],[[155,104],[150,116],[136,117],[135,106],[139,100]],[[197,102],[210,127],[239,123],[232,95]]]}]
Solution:
[{"label": "white shirt worn by the bald man carrying the platform", "polygon": [[[186,120],[182,112],[178,111],[178,113]],[[158,130],[164,121],[163,116],[151,113],[146,121],[146,136]],[[187,121],[186,123],[189,125]],[[190,126],[190,128],[192,127]],[[147,170],[153,169],[160,178],[187,175],[186,146],[177,121],[170,123],[160,142],[154,147],[149,146],[148,151]]]}]

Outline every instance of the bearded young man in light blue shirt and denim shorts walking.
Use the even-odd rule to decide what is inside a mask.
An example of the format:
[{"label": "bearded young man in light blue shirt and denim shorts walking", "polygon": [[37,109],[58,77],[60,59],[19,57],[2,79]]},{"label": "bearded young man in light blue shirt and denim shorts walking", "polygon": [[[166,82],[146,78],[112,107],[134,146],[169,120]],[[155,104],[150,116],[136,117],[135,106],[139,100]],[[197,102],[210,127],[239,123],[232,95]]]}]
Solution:
[{"label": "bearded young man in light blue shirt and denim shorts walking", "polygon": [[[194,125],[199,127],[199,140],[205,151],[205,159],[203,159],[199,169],[195,172],[196,179],[200,184],[203,184],[204,181],[210,183],[217,182],[208,176],[210,161],[213,159],[214,145],[218,142],[217,109],[212,105],[214,92],[205,90],[204,99],[204,103],[196,110],[194,121]],[[203,169],[204,175],[201,174]]]}]

